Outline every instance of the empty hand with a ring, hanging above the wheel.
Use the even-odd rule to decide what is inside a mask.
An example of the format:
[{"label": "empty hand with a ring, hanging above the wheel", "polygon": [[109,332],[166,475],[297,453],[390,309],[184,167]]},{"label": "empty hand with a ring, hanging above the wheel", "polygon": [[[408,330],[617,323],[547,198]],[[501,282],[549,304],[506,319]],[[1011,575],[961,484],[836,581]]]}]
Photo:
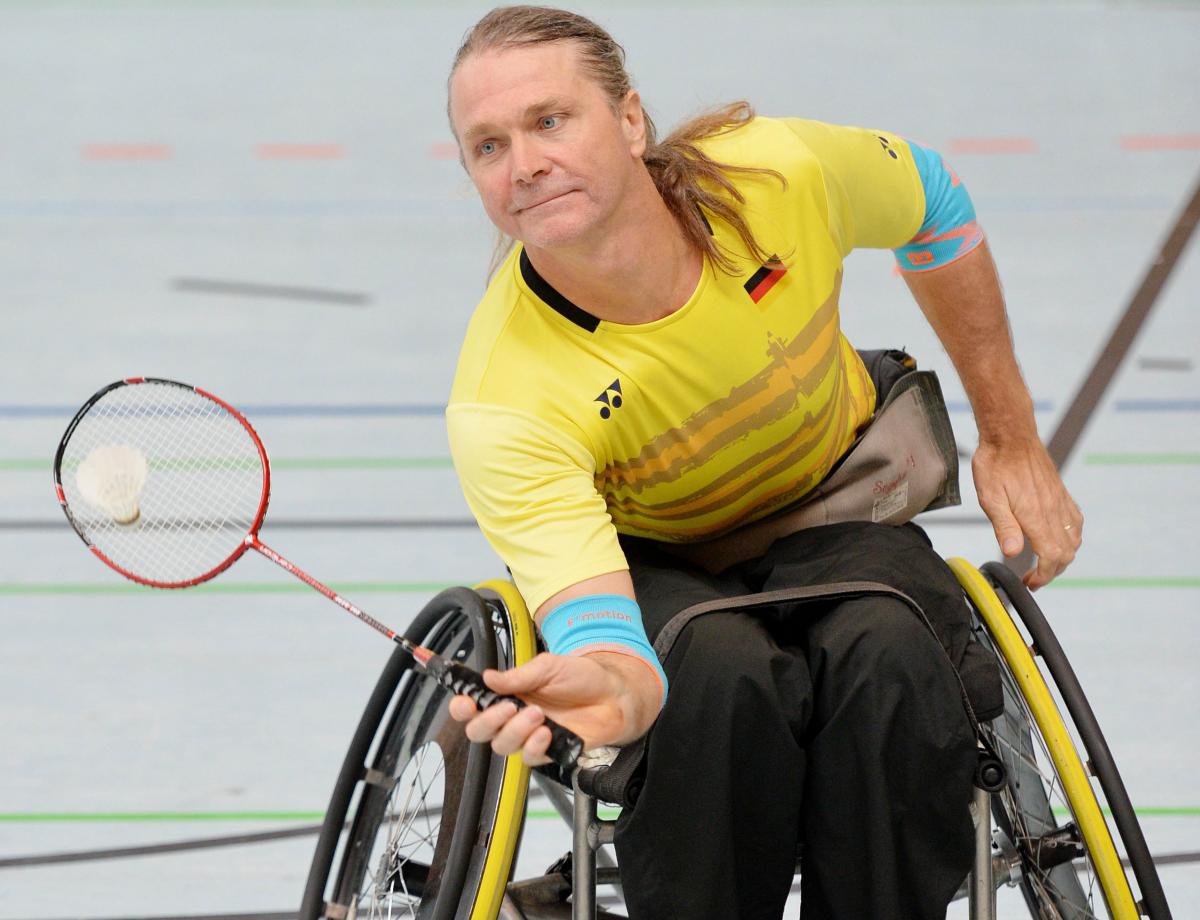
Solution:
[{"label": "empty hand with a ring, hanging above the wheel", "polygon": [[1028,537],[1037,565],[1022,581],[1030,590],[1049,584],[1075,558],[1084,515],[1042,441],[980,441],[971,471],[1001,552],[1018,555]]}]

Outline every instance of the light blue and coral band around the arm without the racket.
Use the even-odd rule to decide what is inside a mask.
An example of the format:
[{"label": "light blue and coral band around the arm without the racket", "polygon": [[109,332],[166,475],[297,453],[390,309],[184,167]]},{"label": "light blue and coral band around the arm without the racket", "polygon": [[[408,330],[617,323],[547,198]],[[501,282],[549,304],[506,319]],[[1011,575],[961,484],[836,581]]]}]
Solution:
[{"label": "light blue and coral band around the arm without the racket", "polygon": [[966,186],[941,155],[912,140],[906,143],[925,190],[925,220],[917,235],[893,252],[905,271],[929,271],[976,248],[983,242],[983,230]]}]

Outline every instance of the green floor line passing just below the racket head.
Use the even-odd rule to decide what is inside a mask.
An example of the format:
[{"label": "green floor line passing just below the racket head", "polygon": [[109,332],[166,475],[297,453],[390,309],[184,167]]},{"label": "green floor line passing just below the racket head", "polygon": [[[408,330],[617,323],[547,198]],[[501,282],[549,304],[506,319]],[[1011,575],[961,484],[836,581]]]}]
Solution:
[{"label": "green floor line passing just below the racket head", "polygon": [[[422,594],[454,588],[461,582],[335,582],[330,587],[338,594]],[[1111,578],[1056,578],[1046,590],[1063,589],[1117,589],[1140,590],[1147,588],[1200,588],[1200,576],[1129,576]],[[190,593],[209,594],[308,594],[312,589],[300,582],[206,582],[190,588]],[[0,595],[114,595],[150,594],[157,588],[146,588],[130,582],[0,582]]]}]

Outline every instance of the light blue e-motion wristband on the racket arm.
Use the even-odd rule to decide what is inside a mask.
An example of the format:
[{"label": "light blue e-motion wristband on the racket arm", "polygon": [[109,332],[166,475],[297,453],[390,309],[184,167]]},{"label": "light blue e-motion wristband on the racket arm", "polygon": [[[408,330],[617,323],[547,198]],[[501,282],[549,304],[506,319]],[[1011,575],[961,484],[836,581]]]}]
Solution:
[{"label": "light blue e-motion wristband on the racket arm", "polygon": [[646,637],[642,611],[632,597],[592,594],[560,603],[541,621],[541,635],[554,655],[614,651],[644,661],[662,684],[666,702],[667,675]]}]

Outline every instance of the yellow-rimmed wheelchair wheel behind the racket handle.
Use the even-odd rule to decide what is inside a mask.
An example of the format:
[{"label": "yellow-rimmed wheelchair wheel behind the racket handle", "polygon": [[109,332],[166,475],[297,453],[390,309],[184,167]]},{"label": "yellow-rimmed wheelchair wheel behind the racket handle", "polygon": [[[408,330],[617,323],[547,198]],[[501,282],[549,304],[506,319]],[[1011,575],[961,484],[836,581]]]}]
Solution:
[{"label": "yellow-rimmed wheelchair wheel behind the racket handle", "polygon": [[[510,623],[516,618],[494,590],[487,594],[485,600],[467,589],[444,591],[406,636],[476,669],[526,660]],[[523,607],[520,613],[526,615]],[[520,758],[467,741],[448,702],[449,693],[414,672],[397,649],[335,786],[302,920],[494,920],[516,850],[528,770]]]}]

